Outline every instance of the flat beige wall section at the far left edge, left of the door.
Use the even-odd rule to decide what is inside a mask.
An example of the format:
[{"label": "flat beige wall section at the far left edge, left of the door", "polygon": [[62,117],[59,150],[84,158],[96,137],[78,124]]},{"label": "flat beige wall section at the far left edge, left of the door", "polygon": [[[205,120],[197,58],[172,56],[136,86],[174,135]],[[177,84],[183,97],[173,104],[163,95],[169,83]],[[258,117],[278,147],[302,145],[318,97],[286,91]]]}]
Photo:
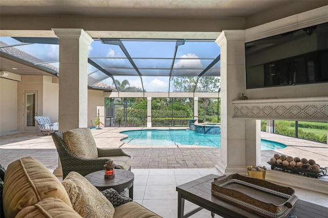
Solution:
[{"label": "flat beige wall section at the far left edge, left of the door", "polygon": [[17,131],[17,83],[0,78],[0,134]]}]

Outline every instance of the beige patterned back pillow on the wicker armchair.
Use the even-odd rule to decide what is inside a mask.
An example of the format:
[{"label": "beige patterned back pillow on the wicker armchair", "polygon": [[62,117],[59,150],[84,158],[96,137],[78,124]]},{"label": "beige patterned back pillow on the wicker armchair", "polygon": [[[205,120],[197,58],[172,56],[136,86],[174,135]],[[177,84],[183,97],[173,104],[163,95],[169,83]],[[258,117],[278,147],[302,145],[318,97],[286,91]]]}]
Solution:
[{"label": "beige patterned back pillow on the wicker armchair", "polygon": [[75,128],[63,133],[67,147],[80,158],[98,158],[97,145],[90,128]]}]

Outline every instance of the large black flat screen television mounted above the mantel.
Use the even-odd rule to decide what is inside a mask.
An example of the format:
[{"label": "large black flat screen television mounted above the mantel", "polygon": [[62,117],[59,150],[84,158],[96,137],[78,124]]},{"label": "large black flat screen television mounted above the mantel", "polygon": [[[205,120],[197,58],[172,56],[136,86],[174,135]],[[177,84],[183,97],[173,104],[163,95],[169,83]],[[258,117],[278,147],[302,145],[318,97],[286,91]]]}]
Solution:
[{"label": "large black flat screen television mounted above the mantel", "polygon": [[245,43],[245,68],[247,89],[328,82],[328,23]]}]

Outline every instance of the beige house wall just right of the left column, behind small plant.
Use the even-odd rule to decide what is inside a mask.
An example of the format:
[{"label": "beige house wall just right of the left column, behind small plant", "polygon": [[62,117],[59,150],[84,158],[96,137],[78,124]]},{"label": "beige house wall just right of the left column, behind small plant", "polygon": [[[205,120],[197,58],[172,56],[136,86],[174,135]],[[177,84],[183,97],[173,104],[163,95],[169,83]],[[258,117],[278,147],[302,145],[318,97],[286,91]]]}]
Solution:
[{"label": "beige house wall just right of the left column, behind small plant", "polygon": [[[103,91],[88,90],[88,127],[92,126],[97,116],[97,107],[103,108],[103,112],[99,111],[100,115],[103,115],[105,113],[105,97],[103,96]],[[100,127],[104,127],[105,123],[101,121],[104,119],[101,118],[103,117],[100,117]]]}]

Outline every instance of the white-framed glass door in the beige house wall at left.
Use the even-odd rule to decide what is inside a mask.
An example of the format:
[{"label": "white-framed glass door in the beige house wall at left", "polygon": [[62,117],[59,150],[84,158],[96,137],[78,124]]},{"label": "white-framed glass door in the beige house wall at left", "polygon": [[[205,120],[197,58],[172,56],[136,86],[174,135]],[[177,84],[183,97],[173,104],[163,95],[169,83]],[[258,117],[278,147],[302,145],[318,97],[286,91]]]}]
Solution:
[{"label": "white-framed glass door in the beige house wall at left", "polygon": [[37,91],[24,92],[24,131],[37,131]]}]

